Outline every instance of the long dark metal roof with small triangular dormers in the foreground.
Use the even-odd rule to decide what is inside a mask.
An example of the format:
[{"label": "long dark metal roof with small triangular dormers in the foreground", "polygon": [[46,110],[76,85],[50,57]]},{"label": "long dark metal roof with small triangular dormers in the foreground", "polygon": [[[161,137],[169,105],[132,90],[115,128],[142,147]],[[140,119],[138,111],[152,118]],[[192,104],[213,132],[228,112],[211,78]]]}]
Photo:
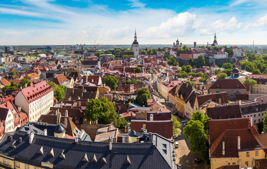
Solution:
[{"label": "long dark metal roof with small triangular dormers in the foreground", "polygon": [[[21,142],[19,142],[20,137]],[[38,134],[34,134],[33,141],[29,144],[29,135],[26,132],[17,131],[12,141],[7,137],[6,141],[0,145],[0,154],[37,167],[41,167],[41,162],[45,162],[53,164],[53,168],[175,169],[173,142],[159,135],[153,136],[153,141],[156,141],[156,146],[153,146],[153,143],[112,143],[110,151],[110,143],[107,142],[78,141],[75,143],[71,139]],[[13,143],[16,148],[10,146]],[[43,154],[38,154],[41,147],[43,147]],[[52,149],[54,157],[48,155]],[[59,157],[63,150],[65,159]],[[89,162],[82,161],[85,154]],[[94,156],[96,163],[90,162]],[[106,163],[100,163],[102,158],[105,158]],[[129,158],[131,164],[124,163],[126,158]]]}]

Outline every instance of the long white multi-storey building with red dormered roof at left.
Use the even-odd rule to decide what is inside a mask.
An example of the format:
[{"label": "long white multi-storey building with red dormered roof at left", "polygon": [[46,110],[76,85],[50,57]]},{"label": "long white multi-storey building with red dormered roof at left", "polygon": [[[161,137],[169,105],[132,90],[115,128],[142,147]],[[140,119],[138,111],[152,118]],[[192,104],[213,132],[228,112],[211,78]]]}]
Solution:
[{"label": "long white multi-storey building with red dormered roof at left", "polygon": [[41,115],[46,115],[53,106],[54,90],[45,81],[20,89],[15,97],[15,104],[24,110],[29,121],[36,122]]}]

